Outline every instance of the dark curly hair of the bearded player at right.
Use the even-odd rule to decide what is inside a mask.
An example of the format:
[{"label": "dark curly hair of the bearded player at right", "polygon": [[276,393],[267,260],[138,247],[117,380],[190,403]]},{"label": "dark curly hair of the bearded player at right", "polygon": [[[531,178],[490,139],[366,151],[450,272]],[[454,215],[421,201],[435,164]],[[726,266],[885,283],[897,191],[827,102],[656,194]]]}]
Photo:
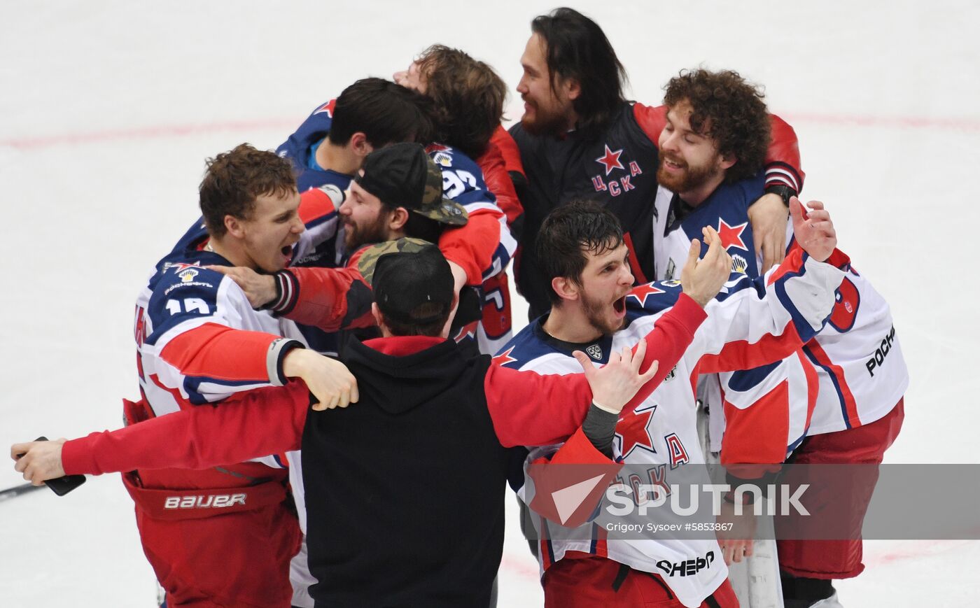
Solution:
[{"label": "dark curly hair of the bearded player at right", "polygon": [[663,103],[687,101],[694,114],[691,128],[711,137],[722,156],[737,162],[725,171],[732,183],[758,173],[769,147],[769,115],[759,87],[732,70],[681,70],[663,87]]}]

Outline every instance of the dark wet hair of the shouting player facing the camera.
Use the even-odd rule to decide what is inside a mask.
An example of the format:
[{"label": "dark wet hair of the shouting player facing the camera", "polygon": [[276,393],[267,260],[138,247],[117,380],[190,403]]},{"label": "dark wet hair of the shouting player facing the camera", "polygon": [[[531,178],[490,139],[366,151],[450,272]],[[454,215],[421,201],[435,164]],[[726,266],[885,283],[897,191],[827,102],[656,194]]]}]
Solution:
[{"label": "dark wet hair of the shouting player facing the camera", "polygon": [[536,254],[552,304],[562,298],[552,287],[552,279],[563,277],[582,284],[582,271],[588,263],[586,253],[605,254],[622,245],[622,227],[613,211],[592,201],[574,201],[548,213],[538,232]]}]

